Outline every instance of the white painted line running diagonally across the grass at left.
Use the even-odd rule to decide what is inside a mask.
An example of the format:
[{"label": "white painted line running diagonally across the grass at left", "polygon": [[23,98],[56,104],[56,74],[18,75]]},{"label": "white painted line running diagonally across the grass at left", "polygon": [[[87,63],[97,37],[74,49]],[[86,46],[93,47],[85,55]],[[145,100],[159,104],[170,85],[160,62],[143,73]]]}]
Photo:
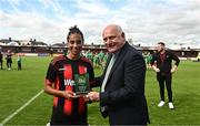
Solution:
[{"label": "white painted line running diagonally across the grass at left", "polygon": [[3,119],[0,123],[0,126],[3,126],[6,123],[8,123],[12,117],[14,117],[18,113],[20,113],[23,108],[26,108],[32,101],[34,101],[41,93],[43,93],[43,90],[41,90],[37,95],[34,95],[31,99],[29,99],[26,104],[23,104],[20,108],[18,108],[14,113],[9,115],[6,119]]}]

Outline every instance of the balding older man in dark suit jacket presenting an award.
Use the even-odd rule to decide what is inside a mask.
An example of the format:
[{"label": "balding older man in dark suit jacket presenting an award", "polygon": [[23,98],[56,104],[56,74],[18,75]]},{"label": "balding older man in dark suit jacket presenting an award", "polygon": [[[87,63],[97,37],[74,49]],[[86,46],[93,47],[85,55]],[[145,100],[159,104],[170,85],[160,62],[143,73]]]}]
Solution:
[{"label": "balding older man in dark suit jacket presenting an award", "polygon": [[147,125],[149,116],[142,54],[126,41],[119,25],[107,25],[102,36],[110,56],[100,93],[90,92],[88,96],[100,102],[102,116],[109,116],[110,125]]}]

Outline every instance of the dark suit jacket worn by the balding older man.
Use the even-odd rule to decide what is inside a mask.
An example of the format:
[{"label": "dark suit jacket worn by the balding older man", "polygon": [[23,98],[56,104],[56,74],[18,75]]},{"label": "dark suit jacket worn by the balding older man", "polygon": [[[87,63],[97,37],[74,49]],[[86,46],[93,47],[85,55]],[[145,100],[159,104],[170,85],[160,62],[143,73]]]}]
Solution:
[{"label": "dark suit jacket worn by the balding older man", "polygon": [[107,107],[102,115],[108,114],[111,125],[147,124],[144,76],[143,56],[127,42],[116,59],[104,92],[100,93],[100,106]]}]

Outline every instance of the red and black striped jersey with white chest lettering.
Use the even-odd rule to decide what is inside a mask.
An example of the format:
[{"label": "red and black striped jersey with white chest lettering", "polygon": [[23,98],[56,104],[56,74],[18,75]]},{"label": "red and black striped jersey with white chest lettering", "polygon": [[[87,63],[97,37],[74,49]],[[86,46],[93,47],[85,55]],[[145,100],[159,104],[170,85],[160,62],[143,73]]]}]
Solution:
[{"label": "red and black striped jersey with white chest lettering", "polygon": [[[70,60],[64,55],[60,55],[50,62],[46,80],[54,84],[53,87],[56,90],[74,92],[74,75],[86,73],[89,74],[89,82],[92,86],[92,84],[94,84],[94,73],[88,59],[81,56],[78,60]],[[66,116],[87,119],[87,104],[83,101],[83,97],[70,101],[63,97],[54,96],[51,119],[53,119],[53,116],[57,118],[56,116],[58,115],[60,118]]]}]

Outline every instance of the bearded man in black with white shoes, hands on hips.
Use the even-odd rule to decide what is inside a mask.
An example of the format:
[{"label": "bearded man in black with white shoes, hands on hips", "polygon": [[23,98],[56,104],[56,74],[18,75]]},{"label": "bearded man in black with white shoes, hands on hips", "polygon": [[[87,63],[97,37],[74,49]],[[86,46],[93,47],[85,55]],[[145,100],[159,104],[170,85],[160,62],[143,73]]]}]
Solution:
[{"label": "bearded man in black with white shoes, hands on hips", "polygon": [[[172,104],[172,73],[177,71],[179,65],[179,57],[173,54],[171,51],[166,50],[166,44],[163,42],[158,43],[158,52],[152,55],[151,65],[153,70],[157,72],[157,81],[159,82],[160,87],[160,103],[158,104],[159,107],[164,105],[164,83],[168,91],[168,98],[169,98],[169,108],[174,108]],[[172,66],[172,61],[176,61],[174,65]]]}]

